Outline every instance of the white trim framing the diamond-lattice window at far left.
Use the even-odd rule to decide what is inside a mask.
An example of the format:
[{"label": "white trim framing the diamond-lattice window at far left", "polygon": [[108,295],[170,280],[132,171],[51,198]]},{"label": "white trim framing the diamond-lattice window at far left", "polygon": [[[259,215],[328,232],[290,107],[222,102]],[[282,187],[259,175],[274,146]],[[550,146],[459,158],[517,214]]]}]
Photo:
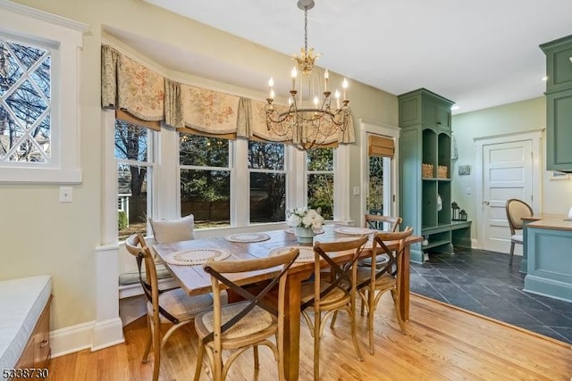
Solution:
[{"label": "white trim framing the diamond-lattice window at far left", "polygon": [[53,59],[55,95],[52,162],[49,165],[2,165],[0,184],[80,184],[80,49],[88,25],[0,0],[0,30],[58,46]]}]

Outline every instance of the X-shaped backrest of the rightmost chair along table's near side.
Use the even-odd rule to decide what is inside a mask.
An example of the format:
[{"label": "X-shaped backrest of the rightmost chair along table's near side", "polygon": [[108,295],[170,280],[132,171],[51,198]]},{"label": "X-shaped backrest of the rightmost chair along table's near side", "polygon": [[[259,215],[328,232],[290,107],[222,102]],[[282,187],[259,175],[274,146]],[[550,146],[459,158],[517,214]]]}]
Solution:
[{"label": "X-shaped backrest of the rightmost chair along table's near side", "polygon": [[[382,269],[372,266],[372,279],[381,277],[384,273],[389,273],[394,277],[400,277],[401,256],[406,247],[406,240],[413,234],[413,228],[407,227],[400,232],[380,232],[374,234],[374,244],[372,245],[372,263],[375,263],[377,255],[386,254],[389,261]],[[387,243],[399,241],[397,250],[390,250]],[[357,285],[363,286],[363,285]]]}]

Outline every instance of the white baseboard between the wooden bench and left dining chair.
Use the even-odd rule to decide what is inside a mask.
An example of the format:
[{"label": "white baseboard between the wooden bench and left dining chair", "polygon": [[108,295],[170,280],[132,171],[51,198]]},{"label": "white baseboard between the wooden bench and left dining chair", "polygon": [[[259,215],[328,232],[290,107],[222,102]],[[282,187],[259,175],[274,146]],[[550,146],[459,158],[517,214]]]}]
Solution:
[{"label": "white baseboard between the wooden bench and left dining chair", "polygon": [[90,321],[50,332],[52,358],[84,349],[97,351],[124,342],[122,320]]}]

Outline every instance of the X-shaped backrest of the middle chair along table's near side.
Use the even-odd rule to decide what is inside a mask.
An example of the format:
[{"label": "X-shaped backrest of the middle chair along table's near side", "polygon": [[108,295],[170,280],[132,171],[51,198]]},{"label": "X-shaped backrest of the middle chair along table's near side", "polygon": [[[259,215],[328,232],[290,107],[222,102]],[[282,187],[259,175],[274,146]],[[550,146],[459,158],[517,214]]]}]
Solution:
[{"label": "X-shaped backrest of the middle chair along table's near side", "polygon": [[[350,285],[350,290],[356,287],[356,262],[361,255],[361,251],[368,240],[367,236],[359,236],[355,239],[348,241],[338,242],[315,242],[314,244],[314,300],[307,301],[302,304],[302,310],[306,309],[312,304],[318,304],[320,300],[329,294],[335,287],[341,286],[345,281],[346,285]],[[332,258],[332,253],[349,252],[352,251],[350,261],[345,263],[337,263],[335,258]],[[324,260],[327,267],[330,268],[331,273],[328,275],[330,278],[330,286],[321,289],[321,269],[324,267]],[[350,290],[347,290],[348,292]]]}]

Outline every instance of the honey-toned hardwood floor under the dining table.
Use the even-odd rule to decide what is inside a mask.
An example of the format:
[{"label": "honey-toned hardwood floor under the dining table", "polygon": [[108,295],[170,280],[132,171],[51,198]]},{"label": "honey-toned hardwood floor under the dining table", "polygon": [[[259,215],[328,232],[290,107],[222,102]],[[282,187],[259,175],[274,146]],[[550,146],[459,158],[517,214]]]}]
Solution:
[{"label": "honey-toned hardwood floor under the dining table", "polygon": [[[357,360],[348,320],[340,314],[336,327],[324,330],[321,355],[323,380],[572,380],[572,347],[471,312],[412,295],[407,335],[400,327],[389,294],[376,311],[375,355],[367,352],[366,319],[357,317],[364,362]],[[299,379],[312,379],[312,338],[301,329]],[[152,363],[141,364],[145,320],[125,327],[125,343],[52,359],[50,380],[150,380]],[[228,380],[277,379],[275,362],[260,349],[260,369],[253,369],[252,351],[242,354]],[[161,380],[189,380],[194,376],[197,335],[192,325],[180,328],[166,344]],[[208,380],[203,366],[201,380]]]}]

